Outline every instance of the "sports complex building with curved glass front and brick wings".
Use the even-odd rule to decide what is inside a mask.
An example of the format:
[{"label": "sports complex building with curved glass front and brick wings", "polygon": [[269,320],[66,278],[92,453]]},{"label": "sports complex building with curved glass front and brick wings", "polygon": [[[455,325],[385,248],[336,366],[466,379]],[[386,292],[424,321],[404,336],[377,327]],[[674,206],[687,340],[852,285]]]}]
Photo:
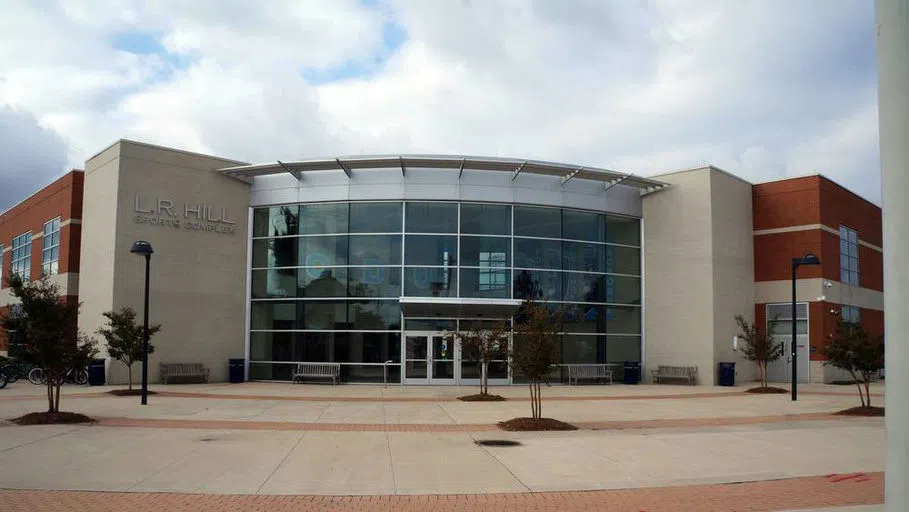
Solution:
[{"label": "sports complex building with curved glass front and brick wings", "polygon": [[[529,297],[562,312],[564,364],[696,365],[713,384],[717,363],[732,361],[752,379],[734,316],[784,319],[767,316],[789,300],[780,269],[807,250],[824,262],[799,274],[811,347],[829,334],[830,309],[882,318],[880,210],[819,176],[752,185],[714,167],[642,178],[443,155],[250,165],[121,140],[86,162],[83,179],[88,229],[75,264],[91,263],[78,280],[79,327],[141,309],[144,260],[129,249],[151,242],[151,321],[163,326],[153,382],[161,362],[201,362],[226,380],[228,359],[244,358],[250,379],[330,361],[347,382],[470,384],[477,364],[442,334],[511,321]],[[6,219],[56,183],[4,214],[5,259],[35,229]],[[841,225],[857,234],[849,245],[843,231],[845,256],[855,246],[861,263],[844,260],[842,282]],[[833,378],[819,353],[811,360],[804,378]],[[493,383],[516,381],[504,361],[490,371]],[[108,365],[111,382],[125,376]]]}]

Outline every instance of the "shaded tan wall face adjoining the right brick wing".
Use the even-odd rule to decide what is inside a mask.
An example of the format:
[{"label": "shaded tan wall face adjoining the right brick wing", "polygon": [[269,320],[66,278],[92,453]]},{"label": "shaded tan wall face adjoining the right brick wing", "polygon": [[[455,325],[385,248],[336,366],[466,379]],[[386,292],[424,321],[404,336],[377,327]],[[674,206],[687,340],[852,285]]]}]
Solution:
[{"label": "shaded tan wall face adjoining the right brick wing", "polygon": [[736,381],[757,378],[757,367],[734,351],[735,315],[754,321],[754,236],[751,184],[723,172],[710,173],[713,223],[713,370],[735,362]]}]

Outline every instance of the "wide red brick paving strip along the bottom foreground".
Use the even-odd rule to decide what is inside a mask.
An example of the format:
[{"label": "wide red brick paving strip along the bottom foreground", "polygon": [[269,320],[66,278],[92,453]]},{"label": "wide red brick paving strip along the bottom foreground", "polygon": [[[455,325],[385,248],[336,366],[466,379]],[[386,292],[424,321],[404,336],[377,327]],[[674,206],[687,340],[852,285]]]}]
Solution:
[{"label": "wide red brick paving strip along the bottom foreground", "polygon": [[231,494],[116,493],[2,490],[4,510],[56,512],[769,512],[788,509],[878,505],[884,474],[852,473],[735,484],[651,487],[613,491],[422,496],[265,496]]}]

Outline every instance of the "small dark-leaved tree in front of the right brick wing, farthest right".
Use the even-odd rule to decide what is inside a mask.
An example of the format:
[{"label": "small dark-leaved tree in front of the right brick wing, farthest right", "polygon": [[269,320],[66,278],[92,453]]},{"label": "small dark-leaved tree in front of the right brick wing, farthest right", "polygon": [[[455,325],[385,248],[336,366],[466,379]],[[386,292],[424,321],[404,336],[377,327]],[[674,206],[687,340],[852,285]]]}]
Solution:
[{"label": "small dark-leaved tree in front of the right brick wing, farthest right", "polygon": [[883,336],[871,336],[862,324],[839,319],[824,355],[825,365],[849,372],[858,387],[862,407],[871,407],[871,380],[884,368]]}]

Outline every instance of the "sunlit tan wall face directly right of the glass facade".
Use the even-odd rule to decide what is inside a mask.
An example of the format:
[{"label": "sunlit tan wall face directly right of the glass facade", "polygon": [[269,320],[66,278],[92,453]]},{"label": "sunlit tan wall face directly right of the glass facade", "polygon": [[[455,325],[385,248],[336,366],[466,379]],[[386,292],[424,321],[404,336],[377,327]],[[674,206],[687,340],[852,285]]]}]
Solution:
[{"label": "sunlit tan wall face directly right of the glass facade", "polygon": [[659,179],[672,186],[643,201],[644,366],[696,365],[713,384],[710,174]]}]

